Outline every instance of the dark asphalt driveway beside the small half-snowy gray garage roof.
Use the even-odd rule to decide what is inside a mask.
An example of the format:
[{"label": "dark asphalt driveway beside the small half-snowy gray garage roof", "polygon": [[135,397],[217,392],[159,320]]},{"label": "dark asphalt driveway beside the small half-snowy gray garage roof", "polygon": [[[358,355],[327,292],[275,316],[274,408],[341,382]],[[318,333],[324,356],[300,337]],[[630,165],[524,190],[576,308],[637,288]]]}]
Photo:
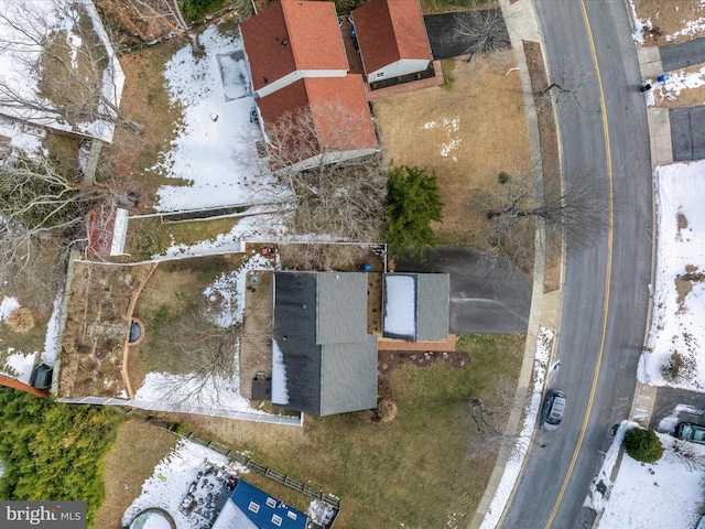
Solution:
[{"label": "dark asphalt driveway beside the small half-snowy gray garage roof", "polygon": [[397,261],[399,272],[451,274],[451,333],[524,334],[531,280],[506,259],[470,248],[441,246],[423,258]]}]

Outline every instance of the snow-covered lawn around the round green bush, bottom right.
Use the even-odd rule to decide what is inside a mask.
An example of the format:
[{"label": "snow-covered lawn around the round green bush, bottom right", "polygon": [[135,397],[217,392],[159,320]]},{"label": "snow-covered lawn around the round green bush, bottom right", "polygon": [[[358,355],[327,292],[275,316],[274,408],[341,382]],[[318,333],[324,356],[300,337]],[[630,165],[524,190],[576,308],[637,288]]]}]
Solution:
[{"label": "snow-covered lawn around the round green bush, bottom right", "polygon": [[[593,494],[587,505],[595,508],[606,506],[599,527],[694,528],[701,518],[699,508],[703,503],[705,446],[660,433],[658,435],[664,447],[663,457],[655,463],[646,464],[625,453],[619,474],[611,483],[610,476],[619,446],[625,432],[633,425],[629,422],[620,425],[605,464],[593,484]],[[610,490],[608,501],[604,501],[601,494],[595,489],[598,483]]]}]

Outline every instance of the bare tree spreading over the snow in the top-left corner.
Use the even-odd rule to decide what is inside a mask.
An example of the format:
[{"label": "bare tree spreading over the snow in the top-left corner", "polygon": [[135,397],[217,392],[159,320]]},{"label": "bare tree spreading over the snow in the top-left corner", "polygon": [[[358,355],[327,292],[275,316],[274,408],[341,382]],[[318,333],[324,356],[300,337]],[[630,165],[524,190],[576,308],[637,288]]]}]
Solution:
[{"label": "bare tree spreading over the snow in the top-left corner", "polygon": [[144,130],[118,106],[115,57],[83,3],[11,2],[0,12],[0,24],[7,30],[0,52],[37,76],[36,90],[17,79],[0,80],[0,107],[40,125],[102,122]]}]

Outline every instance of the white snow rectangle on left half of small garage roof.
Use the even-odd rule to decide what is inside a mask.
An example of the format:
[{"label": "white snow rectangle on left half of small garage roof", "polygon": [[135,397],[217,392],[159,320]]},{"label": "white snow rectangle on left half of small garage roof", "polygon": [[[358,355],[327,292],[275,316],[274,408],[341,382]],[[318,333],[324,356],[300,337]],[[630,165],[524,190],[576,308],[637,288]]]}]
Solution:
[{"label": "white snow rectangle on left half of small garage roof", "polygon": [[384,276],[384,334],[416,336],[416,281],[411,276]]}]

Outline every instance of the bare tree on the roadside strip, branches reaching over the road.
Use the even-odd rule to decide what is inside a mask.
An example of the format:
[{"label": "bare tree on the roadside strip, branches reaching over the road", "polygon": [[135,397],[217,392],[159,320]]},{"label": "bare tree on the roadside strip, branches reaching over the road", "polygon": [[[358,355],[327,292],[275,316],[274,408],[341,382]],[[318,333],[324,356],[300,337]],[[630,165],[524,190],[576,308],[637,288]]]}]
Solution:
[{"label": "bare tree on the roadside strip, branches reaching over the road", "polygon": [[499,253],[517,258],[533,248],[534,220],[560,234],[573,247],[585,247],[605,229],[608,201],[589,174],[572,175],[565,185],[546,183],[536,196],[533,176],[509,181],[490,195],[484,207],[492,223],[491,240]]}]

